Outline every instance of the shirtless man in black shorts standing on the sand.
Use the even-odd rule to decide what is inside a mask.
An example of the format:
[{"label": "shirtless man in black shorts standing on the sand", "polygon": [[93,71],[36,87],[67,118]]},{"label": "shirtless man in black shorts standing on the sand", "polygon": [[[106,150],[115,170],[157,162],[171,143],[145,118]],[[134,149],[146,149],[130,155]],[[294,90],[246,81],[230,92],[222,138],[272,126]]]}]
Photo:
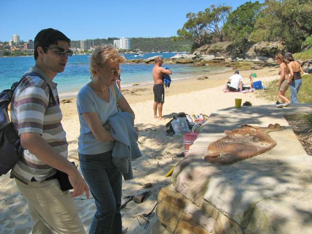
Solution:
[{"label": "shirtless man in black shorts standing on the sand", "polygon": [[[166,70],[165,68],[161,67],[162,59],[157,57],[155,59],[155,67],[153,68],[153,79],[154,79],[154,118],[162,118],[162,105],[165,101],[165,89],[164,89],[164,80],[163,75],[171,75],[171,70]],[[157,109],[158,109],[158,117],[157,117]]]}]

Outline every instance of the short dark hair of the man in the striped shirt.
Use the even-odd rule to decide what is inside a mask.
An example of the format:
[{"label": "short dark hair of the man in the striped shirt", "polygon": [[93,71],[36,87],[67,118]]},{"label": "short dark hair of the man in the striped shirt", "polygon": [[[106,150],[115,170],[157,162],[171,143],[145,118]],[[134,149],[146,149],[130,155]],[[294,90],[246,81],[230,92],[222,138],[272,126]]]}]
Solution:
[{"label": "short dark hair of the man in the striped shirt", "polygon": [[38,47],[42,47],[44,53],[47,52],[47,48],[50,45],[57,45],[58,40],[63,40],[70,45],[70,39],[67,38],[62,32],[53,28],[42,29],[35,37],[34,40],[34,57],[38,58]]}]

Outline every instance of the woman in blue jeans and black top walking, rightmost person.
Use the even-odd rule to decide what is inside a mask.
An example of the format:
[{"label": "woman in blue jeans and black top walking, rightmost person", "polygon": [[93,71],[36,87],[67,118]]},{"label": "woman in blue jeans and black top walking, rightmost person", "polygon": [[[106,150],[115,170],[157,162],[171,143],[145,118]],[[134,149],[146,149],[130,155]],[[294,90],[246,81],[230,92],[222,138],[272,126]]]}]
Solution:
[{"label": "woman in blue jeans and black top walking, rightmost person", "polygon": [[288,84],[291,86],[291,104],[298,104],[298,92],[302,85],[301,75],[304,72],[300,63],[292,58],[292,54],[290,52],[285,54],[285,60],[288,63],[287,66],[290,73]]}]

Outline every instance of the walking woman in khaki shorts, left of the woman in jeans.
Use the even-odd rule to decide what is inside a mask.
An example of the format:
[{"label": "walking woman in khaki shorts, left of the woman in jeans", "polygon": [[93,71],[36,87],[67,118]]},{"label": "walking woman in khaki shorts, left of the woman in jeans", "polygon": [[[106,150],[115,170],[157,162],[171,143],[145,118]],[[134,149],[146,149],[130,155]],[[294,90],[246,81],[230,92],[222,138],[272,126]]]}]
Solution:
[{"label": "walking woman in khaki shorts, left of the woman in jeans", "polygon": [[277,108],[282,108],[283,106],[289,106],[290,100],[285,97],[285,93],[289,87],[288,79],[289,79],[289,71],[287,68],[287,64],[284,60],[284,56],[280,53],[275,55],[275,60],[280,64],[279,68],[279,75],[280,78],[278,82],[276,83],[276,86],[278,87],[278,98],[281,99],[282,102],[276,101],[274,106]]}]

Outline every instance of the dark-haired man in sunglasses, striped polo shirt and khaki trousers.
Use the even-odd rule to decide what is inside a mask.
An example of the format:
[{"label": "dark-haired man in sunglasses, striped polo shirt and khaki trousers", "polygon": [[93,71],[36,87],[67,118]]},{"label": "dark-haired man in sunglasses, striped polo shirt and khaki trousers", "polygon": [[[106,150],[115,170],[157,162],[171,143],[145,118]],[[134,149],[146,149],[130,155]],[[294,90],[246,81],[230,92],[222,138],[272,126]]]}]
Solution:
[{"label": "dark-haired man in sunglasses, striped polo shirt and khaki trousers", "polygon": [[[85,233],[72,197],[84,192],[89,197],[89,188],[67,160],[68,143],[61,124],[57,84],[53,82],[73,54],[70,39],[48,28],[37,34],[34,45],[35,66],[23,76],[11,102],[12,122],[24,148],[11,176],[27,198],[32,233]],[[72,195],[60,189],[57,169],[68,175]]]}]

